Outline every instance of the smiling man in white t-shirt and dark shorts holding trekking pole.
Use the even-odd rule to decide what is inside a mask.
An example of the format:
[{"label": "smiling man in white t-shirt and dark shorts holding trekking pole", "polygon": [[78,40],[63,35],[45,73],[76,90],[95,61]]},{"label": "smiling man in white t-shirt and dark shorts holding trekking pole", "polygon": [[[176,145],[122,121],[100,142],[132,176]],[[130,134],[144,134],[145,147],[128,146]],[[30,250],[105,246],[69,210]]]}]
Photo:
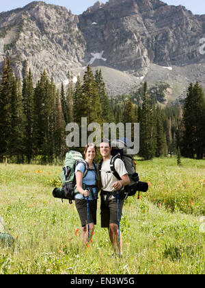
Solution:
[{"label": "smiling man in white t-shirt and dark shorts holding trekking pole", "polygon": [[[121,180],[115,178],[111,173],[111,145],[107,139],[103,139],[100,143],[100,154],[102,162],[100,163],[100,178],[101,178],[101,227],[108,228],[109,239],[116,253],[119,247],[119,230],[118,230],[118,206],[117,206],[117,191],[123,189],[124,186],[130,183],[128,172],[120,158],[115,160],[115,171],[117,171]],[[120,219],[122,216],[123,199],[119,201]],[[120,221],[119,219],[119,221]],[[122,235],[120,233],[120,252],[122,253]]]}]

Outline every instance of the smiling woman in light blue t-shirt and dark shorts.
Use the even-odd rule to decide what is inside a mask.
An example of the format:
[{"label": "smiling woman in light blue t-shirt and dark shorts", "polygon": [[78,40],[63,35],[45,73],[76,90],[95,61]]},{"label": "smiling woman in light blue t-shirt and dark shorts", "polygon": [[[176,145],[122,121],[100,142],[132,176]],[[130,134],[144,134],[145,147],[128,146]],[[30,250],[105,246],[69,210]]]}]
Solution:
[{"label": "smiling woman in light blue t-shirt and dark shorts", "polygon": [[[96,186],[97,170],[94,164],[96,156],[96,146],[94,143],[89,143],[85,146],[84,150],[85,161],[89,165],[89,169],[85,177],[85,164],[79,163],[75,169],[75,176],[77,182],[77,193],[75,194],[75,205],[79,213],[82,225],[82,239],[85,243],[92,239],[94,232],[94,225],[96,225],[96,211],[98,189]],[[90,239],[88,239],[88,225],[87,225],[87,197],[89,200],[89,226],[90,226]]]}]

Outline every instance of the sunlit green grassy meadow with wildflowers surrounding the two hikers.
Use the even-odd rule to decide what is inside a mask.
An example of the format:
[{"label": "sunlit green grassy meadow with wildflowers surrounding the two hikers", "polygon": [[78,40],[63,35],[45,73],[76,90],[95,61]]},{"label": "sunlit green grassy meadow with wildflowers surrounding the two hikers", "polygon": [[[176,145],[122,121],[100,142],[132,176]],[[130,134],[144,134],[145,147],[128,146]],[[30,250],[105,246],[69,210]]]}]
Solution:
[{"label": "sunlit green grassy meadow with wildflowers surrounding the two hikers", "polygon": [[136,163],[149,190],[124,204],[121,259],[100,228],[100,199],[93,241],[81,243],[74,203],[52,196],[61,166],[0,164],[0,215],[16,239],[0,246],[0,274],[204,274],[205,160]]}]

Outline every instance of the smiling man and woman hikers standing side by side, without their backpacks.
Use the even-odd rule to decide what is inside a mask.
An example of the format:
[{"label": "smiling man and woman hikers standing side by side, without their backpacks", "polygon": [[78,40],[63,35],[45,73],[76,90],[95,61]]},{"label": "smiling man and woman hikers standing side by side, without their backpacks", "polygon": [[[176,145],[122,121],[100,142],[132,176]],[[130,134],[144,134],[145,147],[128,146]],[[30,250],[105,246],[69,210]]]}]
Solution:
[{"label": "smiling man and woman hikers standing side by side, without their backpacks", "polygon": [[[109,239],[113,245],[114,251],[117,252],[119,247],[118,217],[120,221],[122,216],[122,206],[124,202],[123,200],[119,200],[119,206],[117,206],[116,195],[117,191],[120,191],[124,186],[130,183],[128,172],[126,171],[123,161],[118,158],[115,160],[115,171],[117,171],[121,180],[115,178],[113,173],[111,173],[111,145],[107,139],[103,139],[100,143],[100,154],[102,156],[102,161],[99,165],[99,173],[97,173],[94,164],[94,158],[96,156],[96,146],[94,145],[94,143],[86,145],[84,154],[85,161],[89,164],[89,171],[87,171],[86,176],[83,178],[83,172],[85,170],[85,166],[83,165],[83,163],[79,163],[75,169],[78,191],[78,193],[76,193],[75,195],[75,205],[81,219],[83,241],[89,240],[87,229],[87,201],[85,200],[85,197],[88,197],[89,199],[89,225],[91,239],[94,231],[94,225],[96,225],[98,189],[101,189],[101,227],[108,228]],[[93,188],[86,189],[86,185],[87,187]],[[121,233],[120,251],[122,252]]]}]

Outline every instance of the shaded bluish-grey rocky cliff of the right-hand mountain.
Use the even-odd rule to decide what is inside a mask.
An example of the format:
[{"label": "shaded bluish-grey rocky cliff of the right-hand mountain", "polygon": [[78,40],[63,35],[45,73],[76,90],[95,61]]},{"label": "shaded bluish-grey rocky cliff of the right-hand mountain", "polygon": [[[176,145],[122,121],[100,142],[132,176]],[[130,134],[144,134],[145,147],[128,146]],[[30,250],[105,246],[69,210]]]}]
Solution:
[{"label": "shaded bluish-grey rocky cliff of the right-hand mountain", "polygon": [[159,0],[109,0],[79,16],[85,57],[102,49],[109,66],[136,75],[146,74],[150,63],[168,67],[199,58],[203,23],[181,5]]}]

